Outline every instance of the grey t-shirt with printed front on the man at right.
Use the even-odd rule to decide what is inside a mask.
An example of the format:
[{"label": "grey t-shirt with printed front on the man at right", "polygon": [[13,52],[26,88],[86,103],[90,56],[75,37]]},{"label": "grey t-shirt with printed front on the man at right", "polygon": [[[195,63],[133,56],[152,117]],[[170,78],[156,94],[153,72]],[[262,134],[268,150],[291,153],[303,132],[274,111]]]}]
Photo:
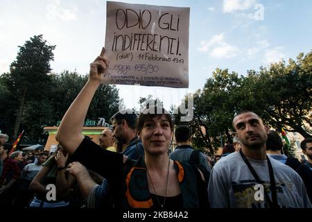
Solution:
[{"label": "grey t-shirt with printed front on the man at right", "polygon": [[[312,207],[300,176],[291,167],[269,158],[274,171],[279,207]],[[272,200],[267,160],[248,160]],[[240,153],[231,153],[220,159],[211,171],[209,203],[211,207],[266,208],[265,198],[255,198],[259,197],[259,192],[256,193],[258,189],[254,189],[257,184]]]}]

